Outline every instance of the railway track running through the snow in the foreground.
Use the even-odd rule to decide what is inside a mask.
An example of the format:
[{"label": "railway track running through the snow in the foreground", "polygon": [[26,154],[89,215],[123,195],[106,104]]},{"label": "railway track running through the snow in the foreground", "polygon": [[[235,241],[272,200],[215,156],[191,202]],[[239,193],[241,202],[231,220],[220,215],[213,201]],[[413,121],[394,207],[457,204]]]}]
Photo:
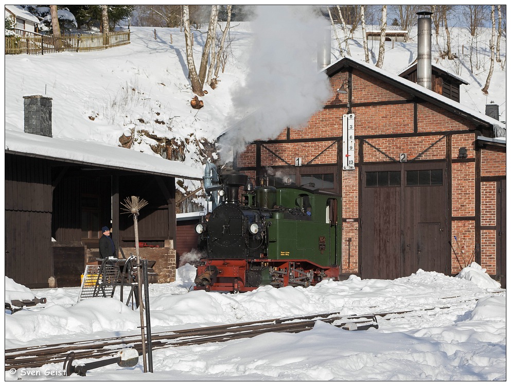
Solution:
[{"label": "railway track running through the snow in the foreground", "polygon": [[[256,322],[244,322],[229,325],[190,328],[177,331],[164,331],[152,334],[152,348],[161,349],[172,346],[186,346],[203,343],[218,343],[233,339],[251,338],[266,332],[301,332],[312,329],[316,321],[329,323],[344,329],[362,330],[378,328],[377,318],[392,320],[416,313],[438,314],[448,312],[453,307],[463,308],[467,302],[477,299],[463,299],[460,296],[438,299],[438,305],[412,310],[379,311],[364,315],[340,315],[330,312],[305,317],[268,319]],[[466,308],[466,306],[464,307]],[[70,353],[74,359],[94,359],[115,356],[120,350],[132,348],[142,353],[139,335],[99,340],[84,340],[29,346],[5,350],[5,371],[11,369],[41,367],[49,363],[64,362]]]}]

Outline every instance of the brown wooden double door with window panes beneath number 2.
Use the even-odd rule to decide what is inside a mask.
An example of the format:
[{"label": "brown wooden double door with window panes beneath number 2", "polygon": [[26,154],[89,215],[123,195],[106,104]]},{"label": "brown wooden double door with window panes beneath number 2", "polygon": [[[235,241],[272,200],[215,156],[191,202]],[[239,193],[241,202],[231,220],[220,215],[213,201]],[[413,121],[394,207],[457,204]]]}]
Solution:
[{"label": "brown wooden double door with window panes beneath number 2", "polygon": [[367,165],[362,186],[361,276],[448,274],[445,163]]}]

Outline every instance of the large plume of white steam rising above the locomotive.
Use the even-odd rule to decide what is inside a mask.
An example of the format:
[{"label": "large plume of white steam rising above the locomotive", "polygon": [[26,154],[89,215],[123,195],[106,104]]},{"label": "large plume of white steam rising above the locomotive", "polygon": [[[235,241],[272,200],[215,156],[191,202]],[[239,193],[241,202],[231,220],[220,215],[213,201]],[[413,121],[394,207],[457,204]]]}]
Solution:
[{"label": "large plume of white steam rising above the locomotive", "polygon": [[304,126],[323,108],[331,90],[316,60],[327,27],[311,6],[257,7],[246,81],[233,94],[237,119],[219,142],[224,161],[226,150]]}]

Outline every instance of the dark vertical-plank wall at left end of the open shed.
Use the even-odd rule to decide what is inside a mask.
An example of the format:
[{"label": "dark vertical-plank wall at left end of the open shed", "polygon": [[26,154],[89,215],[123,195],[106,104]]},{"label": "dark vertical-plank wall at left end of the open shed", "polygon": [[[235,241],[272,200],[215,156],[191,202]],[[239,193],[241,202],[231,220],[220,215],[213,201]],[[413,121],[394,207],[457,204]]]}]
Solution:
[{"label": "dark vertical-plank wall at left end of the open shed", "polygon": [[53,275],[51,190],[47,161],[5,155],[5,274],[28,287]]}]

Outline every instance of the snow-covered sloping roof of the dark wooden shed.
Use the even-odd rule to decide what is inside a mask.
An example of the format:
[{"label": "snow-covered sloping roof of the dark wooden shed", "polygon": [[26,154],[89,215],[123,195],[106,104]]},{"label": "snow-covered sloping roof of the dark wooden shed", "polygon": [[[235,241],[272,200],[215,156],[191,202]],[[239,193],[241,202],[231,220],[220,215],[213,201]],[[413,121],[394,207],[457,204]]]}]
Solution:
[{"label": "snow-covered sloping roof of the dark wooden shed", "polygon": [[74,164],[158,174],[200,180],[202,165],[194,168],[178,161],[168,161],[155,154],[105,145],[95,141],[52,138],[16,130],[5,130],[5,152],[40,157]]}]

